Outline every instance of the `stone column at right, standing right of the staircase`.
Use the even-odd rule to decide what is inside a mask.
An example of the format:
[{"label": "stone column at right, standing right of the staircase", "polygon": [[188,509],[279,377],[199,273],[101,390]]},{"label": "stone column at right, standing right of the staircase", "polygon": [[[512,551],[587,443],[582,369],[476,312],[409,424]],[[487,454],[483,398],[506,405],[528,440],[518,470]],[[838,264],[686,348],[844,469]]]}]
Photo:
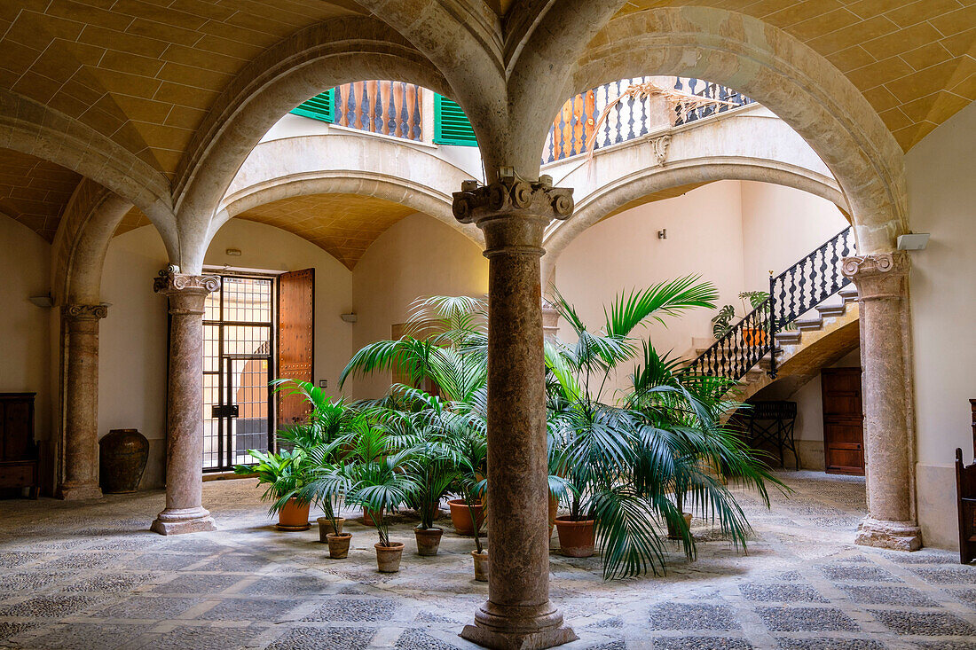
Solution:
[{"label": "stone column at right, standing right of the staircase", "polygon": [[921,548],[915,521],[911,342],[905,252],[843,261],[858,289],[868,517],[855,542],[899,550]]}]

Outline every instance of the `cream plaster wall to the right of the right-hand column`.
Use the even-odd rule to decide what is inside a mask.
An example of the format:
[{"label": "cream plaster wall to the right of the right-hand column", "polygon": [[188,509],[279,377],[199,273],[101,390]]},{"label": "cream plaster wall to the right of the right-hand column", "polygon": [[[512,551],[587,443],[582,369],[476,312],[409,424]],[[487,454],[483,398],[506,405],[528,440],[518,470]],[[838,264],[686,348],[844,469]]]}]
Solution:
[{"label": "cream plaster wall to the right of the right-hand column", "polygon": [[926,545],[957,548],[956,447],[972,460],[969,399],[976,398],[976,105],[906,155],[909,215],[930,232],[912,253],[916,484]]}]

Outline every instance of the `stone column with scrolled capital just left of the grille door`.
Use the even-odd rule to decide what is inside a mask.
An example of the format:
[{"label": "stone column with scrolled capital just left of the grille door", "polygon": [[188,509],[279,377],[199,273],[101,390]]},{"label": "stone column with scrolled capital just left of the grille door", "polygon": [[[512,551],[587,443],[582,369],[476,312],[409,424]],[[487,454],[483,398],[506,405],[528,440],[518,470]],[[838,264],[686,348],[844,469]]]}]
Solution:
[{"label": "stone column with scrolled capital just left of the grille door", "polygon": [[153,289],[169,298],[169,398],[166,404],[166,509],[160,535],[216,530],[203,508],[203,306],[219,278],[160,271]]}]

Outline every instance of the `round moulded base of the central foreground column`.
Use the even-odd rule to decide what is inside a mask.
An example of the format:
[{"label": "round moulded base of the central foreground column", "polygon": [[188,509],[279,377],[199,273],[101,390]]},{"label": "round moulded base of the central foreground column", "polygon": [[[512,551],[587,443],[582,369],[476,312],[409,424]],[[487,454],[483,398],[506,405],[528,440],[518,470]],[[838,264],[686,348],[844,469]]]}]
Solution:
[{"label": "round moulded base of the central foreground column", "polygon": [[474,625],[465,626],[461,637],[493,650],[543,650],[580,638],[562,625],[562,614],[549,603],[511,607],[490,601],[474,614]]}]

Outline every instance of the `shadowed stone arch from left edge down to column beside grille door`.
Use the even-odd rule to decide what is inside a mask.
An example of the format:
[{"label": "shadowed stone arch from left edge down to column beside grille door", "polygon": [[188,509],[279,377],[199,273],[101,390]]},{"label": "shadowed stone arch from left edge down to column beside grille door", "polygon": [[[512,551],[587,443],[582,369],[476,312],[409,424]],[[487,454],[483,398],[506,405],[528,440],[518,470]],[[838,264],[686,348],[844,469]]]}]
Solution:
[{"label": "shadowed stone arch from left edge down to column beside grille door", "polygon": [[170,255],[177,252],[169,183],[116,142],[48,106],[0,89],[0,147],[73,170],[138,206],[162,234]]}]

